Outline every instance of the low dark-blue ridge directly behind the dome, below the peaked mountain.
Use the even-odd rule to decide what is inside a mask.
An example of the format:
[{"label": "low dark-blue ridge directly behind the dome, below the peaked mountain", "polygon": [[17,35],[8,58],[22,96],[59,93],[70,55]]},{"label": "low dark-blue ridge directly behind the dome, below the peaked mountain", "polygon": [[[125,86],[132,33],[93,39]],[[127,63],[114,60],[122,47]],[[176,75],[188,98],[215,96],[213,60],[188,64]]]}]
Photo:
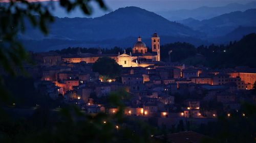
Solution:
[{"label": "low dark-blue ridge directly behind the dome, below the peaked mountain", "polygon": [[[151,48],[151,38],[143,38],[143,42],[145,42],[146,46]],[[57,50],[63,49],[67,47],[101,47],[101,48],[113,48],[115,46],[121,48],[129,48],[133,47],[135,42],[137,41],[137,37],[127,37],[124,39],[107,39],[101,41],[84,41],[84,40],[68,40],[68,39],[44,39],[44,40],[22,40],[23,45],[27,50],[31,51],[49,51],[49,50]],[[172,36],[161,36],[160,37],[160,44],[168,44],[174,42],[188,42],[193,45],[208,45],[207,41],[203,41],[198,38],[192,37],[172,37]]]}]

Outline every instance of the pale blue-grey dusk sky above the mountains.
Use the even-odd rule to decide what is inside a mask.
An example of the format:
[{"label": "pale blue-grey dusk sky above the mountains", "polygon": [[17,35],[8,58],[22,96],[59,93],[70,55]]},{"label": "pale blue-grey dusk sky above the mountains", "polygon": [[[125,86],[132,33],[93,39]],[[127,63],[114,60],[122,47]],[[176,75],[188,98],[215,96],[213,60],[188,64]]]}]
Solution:
[{"label": "pale blue-grey dusk sky above the mountains", "polygon": [[[8,0],[3,0],[1,2],[7,2]],[[30,2],[35,2],[36,0],[29,0]],[[45,0],[39,0],[39,1],[45,1]],[[121,7],[127,7],[127,6],[136,6],[143,9],[146,9],[148,11],[153,12],[161,12],[161,11],[172,11],[172,10],[180,10],[180,9],[195,9],[203,6],[207,7],[221,7],[232,3],[238,3],[238,4],[247,4],[252,1],[212,1],[212,0],[201,0],[201,1],[194,1],[194,0],[187,0],[187,1],[178,1],[178,0],[165,0],[165,1],[148,1],[148,0],[105,0],[104,1],[106,6],[108,6],[109,11],[102,11],[99,9],[98,5],[95,4],[95,2],[92,2],[94,13],[91,15],[91,17],[98,17],[102,16],[106,13],[109,13],[110,11],[114,11]],[[45,2],[46,3],[46,2]],[[54,11],[54,15],[58,17],[86,17],[86,15],[83,15],[80,10],[75,10],[71,13],[67,13],[65,10],[59,7],[58,3],[55,3],[56,9]],[[255,6],[256,8],[256,6]]]}]

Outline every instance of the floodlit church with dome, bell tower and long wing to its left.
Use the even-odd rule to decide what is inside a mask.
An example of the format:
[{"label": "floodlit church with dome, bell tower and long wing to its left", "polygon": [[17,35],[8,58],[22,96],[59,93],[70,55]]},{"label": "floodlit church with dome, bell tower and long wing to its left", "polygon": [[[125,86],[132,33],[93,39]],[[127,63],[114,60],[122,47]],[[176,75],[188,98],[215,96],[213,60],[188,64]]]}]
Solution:
[{"label": "floodlit church with dome, bell tower and long wing to its left", "polygon": [[160,38],[157,33],[154,33],[151,37],[152,52],[147,51],[146,44],[142,42],[141,37],[138,37],[137,42],[134,44],[133,52],[118,54],[102,54],[100,49],[98,54],[92,53],[80,53],[76,55],[65,55],[62,57],[63,62],[68,63],[94,63],[100,57],[107,56],[114,59],[122,67],[147,67],[150,65],[155,65],[155,63],[160,61]]}]

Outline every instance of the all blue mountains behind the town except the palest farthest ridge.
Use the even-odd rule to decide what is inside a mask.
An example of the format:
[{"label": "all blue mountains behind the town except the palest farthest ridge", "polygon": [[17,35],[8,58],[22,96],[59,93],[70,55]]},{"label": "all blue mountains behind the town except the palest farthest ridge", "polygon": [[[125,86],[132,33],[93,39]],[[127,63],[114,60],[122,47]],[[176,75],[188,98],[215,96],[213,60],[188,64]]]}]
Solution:
[{"label": "all blue mountains behind the town except the palest farthest ridge", "polygon": [[183,23],[180,24],[138,7],[125,7],[97,18],[55,17],[47,37],[28,26],[26,33],[20,34],[19,38],[28,49],[36,51],[68,46],[133,47],[138,36],[150,46],[154,32],[161,37],[161,44],[180,41],[198,46],[239,40],[255,32],[255,16],[256,10],[250,9],[202,21],[189,18],[179,21]]}]

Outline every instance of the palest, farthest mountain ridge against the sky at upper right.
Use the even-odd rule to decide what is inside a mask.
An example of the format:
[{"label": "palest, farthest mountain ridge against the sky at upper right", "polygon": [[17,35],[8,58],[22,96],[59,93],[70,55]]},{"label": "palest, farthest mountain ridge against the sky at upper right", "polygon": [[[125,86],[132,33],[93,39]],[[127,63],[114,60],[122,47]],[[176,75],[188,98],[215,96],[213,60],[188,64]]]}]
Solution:
[{"label": "palest, farthest mountain ridge against the sky at upper right", "polygon": [[156,12],[157,14],[165,17],[171,21],[183,20],[187,18],[194,18],[197,20],[209,19],[219,16],[221,14],[230,13],[233,11],[245,11],[247,9],[256,8],[256,2],[250,2],[248,4],[232,3],[223,7],[200,7],[191,10],[176,10],[176,11],[162,11]]}]

